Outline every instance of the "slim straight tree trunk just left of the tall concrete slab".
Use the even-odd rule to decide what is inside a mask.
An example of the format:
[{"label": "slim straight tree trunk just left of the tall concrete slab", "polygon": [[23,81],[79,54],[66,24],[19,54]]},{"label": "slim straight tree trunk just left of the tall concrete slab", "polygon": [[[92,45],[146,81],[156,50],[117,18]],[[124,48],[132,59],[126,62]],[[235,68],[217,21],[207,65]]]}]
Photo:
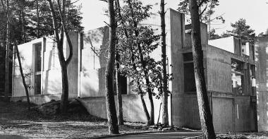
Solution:
[{"label": "slim straight tree trunk just left of the tall concrete slab", "polygon": [[161,16],[161,30],[162,30],[162,64],[163,64],[163,95],[162,95],[162,123],[169,125],[168,113],[168,91],[167,91],[167,76],[166,76],[166,24],[165,24],[165,4],[161,0],[160,16]]}]

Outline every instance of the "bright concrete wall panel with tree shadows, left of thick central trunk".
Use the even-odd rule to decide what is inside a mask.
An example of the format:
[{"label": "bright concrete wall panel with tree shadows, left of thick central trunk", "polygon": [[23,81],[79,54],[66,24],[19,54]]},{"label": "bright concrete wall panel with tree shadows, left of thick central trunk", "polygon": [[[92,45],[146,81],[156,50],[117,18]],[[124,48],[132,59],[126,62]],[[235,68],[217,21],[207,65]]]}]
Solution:
[{"label": "bright concrete wall panel with tree shadows, left of thick central trunk", "polygon": [[109,28],[85,34],[81,49],[80,97],[105,96],[105,70],[108,58]]}]

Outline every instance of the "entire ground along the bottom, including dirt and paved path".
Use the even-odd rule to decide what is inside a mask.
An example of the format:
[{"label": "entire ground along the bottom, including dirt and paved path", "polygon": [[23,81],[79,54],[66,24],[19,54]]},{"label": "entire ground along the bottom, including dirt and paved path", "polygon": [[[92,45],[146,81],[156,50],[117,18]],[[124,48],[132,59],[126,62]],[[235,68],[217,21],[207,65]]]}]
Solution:
[{"label": "entire ground along the bottom, including dirt and paved path", "polygon": [[[35,109],[28,111],[25,102],[0,102],[0,138],[88,138],[108,135],[107,122],[90,114],[68,114],[67,116],[45,116]],[[31,107],[35,107],[32,104]],[[151,132],[145,123],[126,122],[120,133]],[[117,138],[188,138],[200,132],[175,131],[168,133],[143,133]],[[268,133],[218,134],[221,139],[268,138]],[[114,137],[111,137],[114,138]]]}]

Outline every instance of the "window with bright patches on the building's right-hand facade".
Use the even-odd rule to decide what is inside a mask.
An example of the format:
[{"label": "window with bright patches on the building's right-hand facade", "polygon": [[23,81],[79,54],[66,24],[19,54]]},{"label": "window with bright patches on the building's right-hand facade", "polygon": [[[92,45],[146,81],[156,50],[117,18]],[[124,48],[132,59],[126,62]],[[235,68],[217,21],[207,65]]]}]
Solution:
[{"label": "window with bright patches on the building's right-hand facade", "polygon": [[236,59],[231,59],[231,80],[232,80],[232,91],[235,94],[244,94],[244,71],[243,62]]}]

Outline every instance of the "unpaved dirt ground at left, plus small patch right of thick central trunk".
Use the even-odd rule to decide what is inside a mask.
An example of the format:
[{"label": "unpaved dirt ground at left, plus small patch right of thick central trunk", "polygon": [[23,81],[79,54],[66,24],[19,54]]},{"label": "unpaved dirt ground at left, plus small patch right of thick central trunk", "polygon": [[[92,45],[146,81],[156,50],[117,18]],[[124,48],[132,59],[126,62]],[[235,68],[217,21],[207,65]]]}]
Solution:
[{"label": "unpaved dirt ground at left, plus small patch right of thick central trunk", "polygon": [[[125,123],[120,133],[145,131],[144,123]],[[3,135],[18,135],[14,138],[85,138],[107,135],[104,119],[89,114],[68,116],[44,116],[37,111],[28,111],[25,102],[0,102],[0,138]]]}]

